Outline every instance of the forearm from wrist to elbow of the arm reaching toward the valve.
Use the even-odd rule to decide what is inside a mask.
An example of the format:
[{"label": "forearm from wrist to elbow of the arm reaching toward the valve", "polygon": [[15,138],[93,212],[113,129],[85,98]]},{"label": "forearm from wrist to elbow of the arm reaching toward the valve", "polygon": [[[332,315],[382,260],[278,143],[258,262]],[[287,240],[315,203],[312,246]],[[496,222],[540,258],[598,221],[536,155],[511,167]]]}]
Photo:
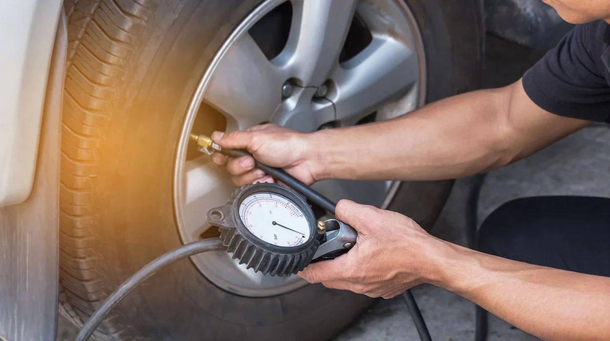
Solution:
[{"label": "forearm from wrist to elbow of the arm reaching toward the valve", "polygon": [[448,179],[500,167],[503,91],[467,93],[394,120],[316,132],[316,178]]}]

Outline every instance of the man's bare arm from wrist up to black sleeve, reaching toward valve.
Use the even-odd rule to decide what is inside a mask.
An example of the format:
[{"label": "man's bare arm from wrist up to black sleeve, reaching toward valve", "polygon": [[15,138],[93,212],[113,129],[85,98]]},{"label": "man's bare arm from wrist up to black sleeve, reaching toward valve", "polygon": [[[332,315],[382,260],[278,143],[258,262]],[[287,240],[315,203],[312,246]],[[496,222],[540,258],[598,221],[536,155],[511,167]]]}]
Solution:
[{"label": "man's bare arm from wrist up to black sleeve, reaching toward valve", "polygon": [[536,106],[521,81],[395,120],[312,134],[315,179],[429,180],[502,167],[589,124]]}]

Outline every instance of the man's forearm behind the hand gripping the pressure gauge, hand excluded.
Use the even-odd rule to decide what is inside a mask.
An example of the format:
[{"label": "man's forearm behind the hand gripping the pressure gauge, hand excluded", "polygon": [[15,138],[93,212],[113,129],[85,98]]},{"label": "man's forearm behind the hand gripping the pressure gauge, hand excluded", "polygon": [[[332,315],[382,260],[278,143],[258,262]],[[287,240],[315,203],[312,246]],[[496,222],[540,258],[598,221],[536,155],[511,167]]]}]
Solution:
[{"label": "man's forearm behind the hand gripping the pressure gauge, hand excluded", "polygon": [[545,340],[609,340],[610,278],[450,245],[435,284]]}]

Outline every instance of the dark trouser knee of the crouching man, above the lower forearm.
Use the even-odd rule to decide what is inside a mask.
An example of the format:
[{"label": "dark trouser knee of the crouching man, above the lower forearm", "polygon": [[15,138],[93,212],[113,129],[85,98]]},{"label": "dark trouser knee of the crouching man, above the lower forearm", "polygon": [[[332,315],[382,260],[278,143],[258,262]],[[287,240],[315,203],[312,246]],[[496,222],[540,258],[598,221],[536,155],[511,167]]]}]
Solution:
[{"label": "dark trouser knee of the crouching man, above the lower forearm", "polygon": [[509,201],[481,225],[478,248],[529,264],[610,277],[610,199]]}]

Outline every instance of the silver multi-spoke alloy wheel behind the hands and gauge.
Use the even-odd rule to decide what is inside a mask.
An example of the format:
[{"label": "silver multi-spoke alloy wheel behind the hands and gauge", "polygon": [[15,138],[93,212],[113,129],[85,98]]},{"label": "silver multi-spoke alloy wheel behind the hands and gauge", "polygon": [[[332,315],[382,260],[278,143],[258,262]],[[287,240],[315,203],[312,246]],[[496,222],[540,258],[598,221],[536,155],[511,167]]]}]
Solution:
[{"label": "silver multi-spoke alloy wheel behind the hands and gauge", "polygon": [[[190,103],[174,169],[176,221],[184,243],[201,239],[210,228],[207,210],[223,204],[235,190],[226,170],[215,167],[207,156],[186,159],[202,102],[226,117],[228,131],[265,121],[300,131],[315,131],[325,124],[351,126],[373,112],[375,120],[386,120],[424,103],[422,38],[402,0],[288,0],[292,25],[287,43],[269,60],[248,31],[285,1],[264,1],[240,23],[217,52]],[[354,13],[370,30],[371,41],[339,63]],[[398,182],[329,180],[314,187],[333,200],[350,198],[386,207]],[[223,251],[194,256],[192,261],[207,279],[237,295],[273,296],[306,284],[296,276],[278,278],[246,270]]]}]

